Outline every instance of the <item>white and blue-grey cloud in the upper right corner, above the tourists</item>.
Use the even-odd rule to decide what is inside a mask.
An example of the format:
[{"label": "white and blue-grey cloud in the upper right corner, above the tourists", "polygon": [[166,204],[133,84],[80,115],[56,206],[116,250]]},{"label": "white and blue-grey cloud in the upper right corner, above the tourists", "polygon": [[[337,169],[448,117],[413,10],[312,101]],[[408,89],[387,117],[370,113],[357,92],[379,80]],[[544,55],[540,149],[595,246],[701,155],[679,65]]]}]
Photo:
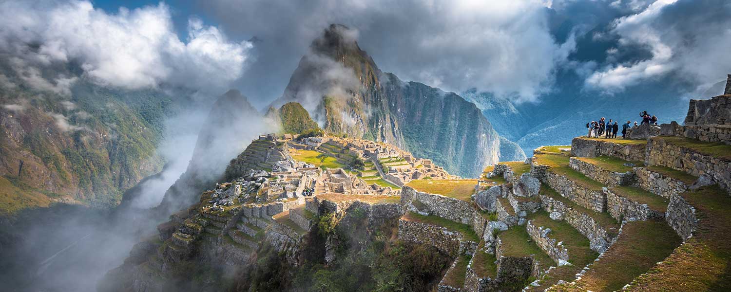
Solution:
[{"label": "white and blue-grey cloud in the upper right corner, above the tourists", "polygon": [[731,72],[730,27],[728,1],[655,1],[641,12],[616,20],[611,31],[619,37],[618,51],[639,46],[651,58],[624,63],[609,59],[586,83],[622,91],[676,73],[701,90]]}]

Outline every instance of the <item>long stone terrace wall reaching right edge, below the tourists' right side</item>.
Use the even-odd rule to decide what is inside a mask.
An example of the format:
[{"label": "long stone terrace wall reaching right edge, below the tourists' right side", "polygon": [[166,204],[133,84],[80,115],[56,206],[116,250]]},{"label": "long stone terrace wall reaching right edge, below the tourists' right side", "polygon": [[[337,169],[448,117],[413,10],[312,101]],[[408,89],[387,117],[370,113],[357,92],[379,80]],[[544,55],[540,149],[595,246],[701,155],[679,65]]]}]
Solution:
[{"label": "long stone terrace wall reaching right edge, below the tourists' right side", "polygon": [[708,174],[721,188],[731,191],[731,160],[672,145],[662,137],[648,139],[647,156],[650,165],[666,166],[694,176]]}]

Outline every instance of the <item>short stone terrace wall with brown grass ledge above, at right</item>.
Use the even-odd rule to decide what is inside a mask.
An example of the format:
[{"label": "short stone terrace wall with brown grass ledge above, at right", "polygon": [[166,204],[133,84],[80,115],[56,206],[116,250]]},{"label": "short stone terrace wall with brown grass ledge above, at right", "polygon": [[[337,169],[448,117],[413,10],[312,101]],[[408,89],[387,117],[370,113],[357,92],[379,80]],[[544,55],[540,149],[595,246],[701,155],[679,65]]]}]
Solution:
[{"label": "short stone terrace wall with brown grass ledge above, at right", "polygon": [[662,220],[669,199],[637,187],[607,189],[607,212],[618,221]]}]

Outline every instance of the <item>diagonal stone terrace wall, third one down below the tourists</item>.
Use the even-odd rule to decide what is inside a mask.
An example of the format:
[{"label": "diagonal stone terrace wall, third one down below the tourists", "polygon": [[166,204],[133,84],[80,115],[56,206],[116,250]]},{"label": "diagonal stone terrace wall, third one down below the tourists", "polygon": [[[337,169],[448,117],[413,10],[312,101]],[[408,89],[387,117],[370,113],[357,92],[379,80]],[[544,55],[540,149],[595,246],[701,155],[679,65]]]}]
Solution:
[{"label": "diagonal stone terrace wall, third one down below the tourists", "polygon": [[561,196],[596,212],[604,212],[607,208],[607,195],[604,191],[594,191],[578,185],[560,174],[548,172],[545,183],[556,190]]}]

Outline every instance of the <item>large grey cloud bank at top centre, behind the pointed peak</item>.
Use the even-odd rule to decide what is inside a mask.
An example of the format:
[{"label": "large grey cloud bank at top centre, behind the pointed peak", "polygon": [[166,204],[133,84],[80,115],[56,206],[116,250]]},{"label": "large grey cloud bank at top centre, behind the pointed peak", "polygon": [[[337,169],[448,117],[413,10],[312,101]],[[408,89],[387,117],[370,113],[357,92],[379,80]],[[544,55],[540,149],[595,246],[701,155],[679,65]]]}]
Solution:
[{"label": "large grey cloud bank at top centre, behind the pointed peak", "polygon": [[[312,39],[330,23],[356,28],[380,69],[447,91],[480,90],[531,101],[566,57],[544,1],[201,2],[231,34],[262,39],[239,85],[272,100]],[[259,105],[265,102],[260,101]]]}]

